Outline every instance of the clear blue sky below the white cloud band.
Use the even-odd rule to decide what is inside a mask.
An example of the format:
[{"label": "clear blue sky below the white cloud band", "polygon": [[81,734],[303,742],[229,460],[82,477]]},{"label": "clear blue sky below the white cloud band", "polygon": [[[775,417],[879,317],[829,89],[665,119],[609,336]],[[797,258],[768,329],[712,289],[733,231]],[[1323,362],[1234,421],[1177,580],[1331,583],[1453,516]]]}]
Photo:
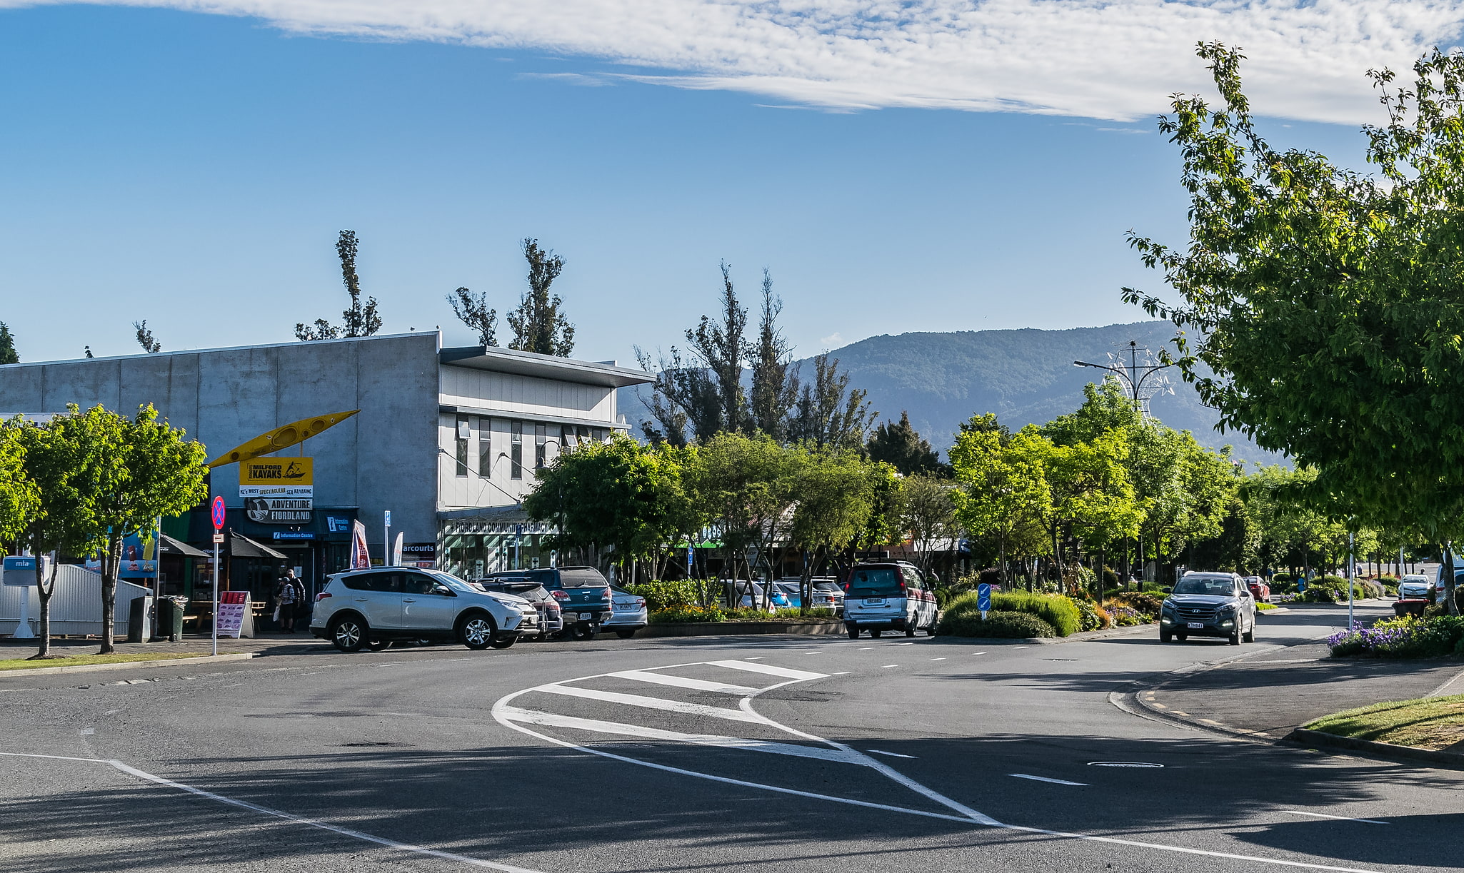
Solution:
[{"label": "clear blue sky below the white cloud band", "polygon": [[[1022,111],[971,111],[938,69],[897,94],[864,73],[837,89],[829,73],[801,89],[706,66],[668,82],[675,58],[608,57],[583,35],[6,6],[0,320],[22,360],[133,354],[136,319],[168,349],[338,320],[343,228],[385,330],[441,325],[448,344],[470,335],[445,295],[489,291],[502,316],[524,287],[518,240],[537,237],[567,260],[575,357],[622,363],[714,306],[722,259],[750,301],[772,271],[789,338],[814,354],[877,333],[1138,320],[1118,288],[1157,276],[1124,233],[1184,233],[1152,116],[1202,82],[1198,61],[1173,61],[1174,85],[1161,67],[1097,95],[1069,70],[1072,105],[1050,99],[1061,69],[1013,73]],[[1258,67],[1263,94],[1285,92],[1265,83],[1284,64]],[[960,73],[972,94],[1004,99],[976,73]],[[1310,120],[1271,132],[1356,161],[1366,110],[1351,85],[1318,82],[1281,105]]]}]

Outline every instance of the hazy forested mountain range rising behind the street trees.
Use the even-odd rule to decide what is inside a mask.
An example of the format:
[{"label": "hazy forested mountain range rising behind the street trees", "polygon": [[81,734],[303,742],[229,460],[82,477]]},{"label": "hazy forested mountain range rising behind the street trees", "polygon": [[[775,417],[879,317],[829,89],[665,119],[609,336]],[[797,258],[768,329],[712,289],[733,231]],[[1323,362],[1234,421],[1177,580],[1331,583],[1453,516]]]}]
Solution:
[{"label": "hazy forested mountain range rising behind the street trees", "polygon": [[[1168,347],[1173,335],[1170,322],[1067,330],[900,333],[870,336],[832,351],[830,357],[839,358],[840,370],[849,373],[851,388],[868,392],[871,408],[880,412],[877,421],[899,421],[900,412],[908,412],[915,430],[944,456],[960,423],[972,415],[996,412],[1003,424],[1019,430],[1076,409],[1083,401],[1083,386],[1102,380],[1104,374],[1073,361],[1108,364],[1110,354],[1117,355],[1130,342],[1158,351]],[[1127,357],[1124,351],[1123,358]],[[813,371],[811,358],[801,364],[804,373]],[[1244,434],[1217,431],[1217,412],[1200,404],[1177,371],[1167,373],[1173,373],[1171,393],[1151,401],[1155,418],[1192,431],[1205,446],[1234,446],[1240,459],[1277,461]],[[619,408],[631,431],[640,436],[638,424],[649,415],[635,389],[621,389]]]}]

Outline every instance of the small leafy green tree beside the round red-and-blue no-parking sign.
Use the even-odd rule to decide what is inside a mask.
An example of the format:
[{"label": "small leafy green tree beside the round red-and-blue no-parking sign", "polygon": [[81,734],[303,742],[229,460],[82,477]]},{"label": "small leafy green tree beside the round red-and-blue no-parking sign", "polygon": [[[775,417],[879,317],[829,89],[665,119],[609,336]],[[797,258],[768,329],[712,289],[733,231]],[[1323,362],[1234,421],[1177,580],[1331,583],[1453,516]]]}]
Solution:
[{"label": "small leafy green tree beside the round red-and-blue no-parking sign", "polygon": [[102,540],[101,652],[116,651],[113,617],[117,605],[117,570],[122,543],[127,537],[157,529],[163,516],[182,515],[208,500],[208,453],[198,440],[186,439],[182,428],[158,421],[152,405],[142,407],[133,418],[107,412],[101,407],[86,411],[94,433],[111,446],[114,466],[97,481],[92,493],[92,519]]}]

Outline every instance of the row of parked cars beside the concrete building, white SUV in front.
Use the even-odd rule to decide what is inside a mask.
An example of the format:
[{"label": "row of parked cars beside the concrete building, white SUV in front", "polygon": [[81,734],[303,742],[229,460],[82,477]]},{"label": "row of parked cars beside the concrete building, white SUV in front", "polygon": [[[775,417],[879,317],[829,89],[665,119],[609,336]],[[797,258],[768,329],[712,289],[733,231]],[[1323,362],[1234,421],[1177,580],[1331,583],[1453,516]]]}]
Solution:
[{"label": "row of parked cars beside the concrete building, white SUV in front", "polygon": [[315,598],[310,633],[343,652],[397,640],[507,649],[520,639],[622,639],[646,627],[646,601],[594,567],[512,570],[464,581],[441,570],[369,567],[335,573]]}]

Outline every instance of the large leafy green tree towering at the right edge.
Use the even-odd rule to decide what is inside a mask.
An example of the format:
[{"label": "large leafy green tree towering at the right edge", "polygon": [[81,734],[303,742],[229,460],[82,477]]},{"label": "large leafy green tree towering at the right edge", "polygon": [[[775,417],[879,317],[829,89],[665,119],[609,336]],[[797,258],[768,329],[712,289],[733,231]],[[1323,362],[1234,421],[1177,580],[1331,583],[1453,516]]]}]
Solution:
[{"label": "large leafy green tree towering at the right edge", "polygon": [[1312,504],[1448,540],[1464,516],[1464,57],[1435,50],[1411,88],[1370,73],[1388,121],[1364,129],[1364,175],[1274,148],[1243,56],[1199,56],[1221,105],[1177,95],[1159,126],[1183,159],[1190,240],[1130,240],[1180,300],[1124,300],[1181,329],[1184,377],[1224,427],[1316,469]]}]

